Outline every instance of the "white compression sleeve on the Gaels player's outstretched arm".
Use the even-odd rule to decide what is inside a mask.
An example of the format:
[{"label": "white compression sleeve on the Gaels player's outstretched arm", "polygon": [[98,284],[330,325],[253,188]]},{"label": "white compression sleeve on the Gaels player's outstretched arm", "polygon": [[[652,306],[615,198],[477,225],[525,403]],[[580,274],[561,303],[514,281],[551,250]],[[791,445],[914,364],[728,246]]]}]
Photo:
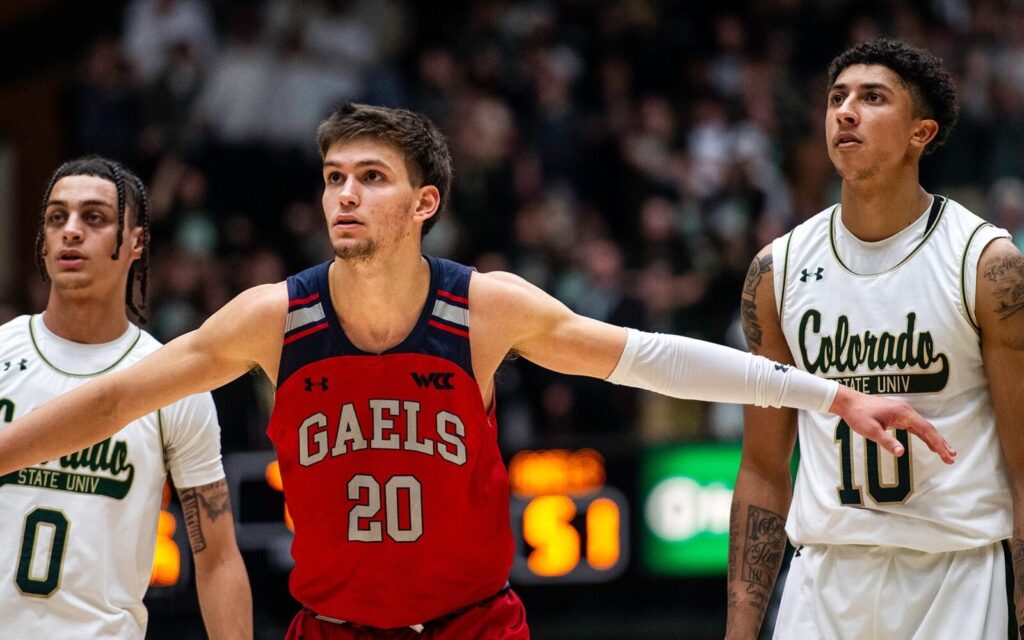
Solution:
[{"label": "white compression sleeve on the Gaels player's outstretched arm", "polygon": [[608,382],[665,395],[828,412],[839,383],[762,355],[666,334],[629,330]]}]

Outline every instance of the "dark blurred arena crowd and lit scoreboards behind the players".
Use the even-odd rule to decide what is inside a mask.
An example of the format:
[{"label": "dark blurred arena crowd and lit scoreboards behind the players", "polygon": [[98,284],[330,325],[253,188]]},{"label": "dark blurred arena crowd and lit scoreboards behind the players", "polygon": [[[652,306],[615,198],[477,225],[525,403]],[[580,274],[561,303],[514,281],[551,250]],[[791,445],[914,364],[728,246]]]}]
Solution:
[{"label": "dark blurred arena crowd and lit scoreboards behind the players", "polygon": [[[163,340],[327,259],[314,129],[354,99],[422,111],[450,136],[456,182],[427,251],[518,272],[588,315],[741,347],[752,256],[838,197],[823,72],[878,35],[956,77],[959,125],[926,187],[1020,246],[1020,1],[5,0],[0,319],[43,307],[38,200],[83,153],[151,185],[145,314]],[[522,360],[498,387],[535,637],[721,637],[738,408]],[[269,389],[244,377],[215,399],[257,637],[280,638],[297,605]],[[148,637],[201,638],[174,503],[164,517]]]}]

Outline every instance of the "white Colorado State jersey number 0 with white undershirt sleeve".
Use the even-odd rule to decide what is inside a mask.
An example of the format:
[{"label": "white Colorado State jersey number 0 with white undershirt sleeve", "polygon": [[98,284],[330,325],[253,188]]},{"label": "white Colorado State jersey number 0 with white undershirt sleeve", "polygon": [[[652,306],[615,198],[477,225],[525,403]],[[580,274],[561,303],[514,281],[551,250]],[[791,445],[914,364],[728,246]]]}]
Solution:
[{"label": "white Colorado State jersey number 0 with white undershirt sleeve", "polygon": [[[3,325],[0,429],[159,346],[134,326],[84,345],[49,333],[39,315]],[[0,476],[0,639],[143,638],[167,472],[179,487],[224,477],[219,437],[203,393],[82,452]]]}]

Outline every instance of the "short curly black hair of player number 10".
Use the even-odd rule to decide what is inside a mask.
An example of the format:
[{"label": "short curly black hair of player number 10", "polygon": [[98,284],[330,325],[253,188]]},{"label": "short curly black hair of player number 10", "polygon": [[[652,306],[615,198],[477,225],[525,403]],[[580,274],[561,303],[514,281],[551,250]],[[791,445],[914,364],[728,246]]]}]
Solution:
[{"label": "short curly black hair of player number 10", "polygon": [[913,98],[915,115],[939,123],[939,132],[925,148],[925,154],[942,146],[956,125],[959,108],[952,79],[942,69],[941,59],[899,40],[879,38],[873,42],[861,42],[833,59],[828,66],[828,86],[853,65],[881,65],[899,76]]}]

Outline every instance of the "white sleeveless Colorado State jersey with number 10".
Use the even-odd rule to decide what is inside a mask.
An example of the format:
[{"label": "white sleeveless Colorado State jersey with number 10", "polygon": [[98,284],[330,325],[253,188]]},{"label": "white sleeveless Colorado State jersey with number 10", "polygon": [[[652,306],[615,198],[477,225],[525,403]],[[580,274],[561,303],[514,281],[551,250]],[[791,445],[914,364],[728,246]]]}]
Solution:
[{"label": "white sleeveless Colorado State jersey with number 10", "polygon": [[892,268],[858,274],[837,249],[839,215],[838,206],[822,211],[772,245],[794,359],[865,393],[906,400],[957,458],[945,465],[899,430],[906,454],[896,459],[838,417],[801,411],[790,539],[937,552],[1009,538],[1010,486],[974,314],[978,259],[1008,233],[936,197],[923,240]]}]

